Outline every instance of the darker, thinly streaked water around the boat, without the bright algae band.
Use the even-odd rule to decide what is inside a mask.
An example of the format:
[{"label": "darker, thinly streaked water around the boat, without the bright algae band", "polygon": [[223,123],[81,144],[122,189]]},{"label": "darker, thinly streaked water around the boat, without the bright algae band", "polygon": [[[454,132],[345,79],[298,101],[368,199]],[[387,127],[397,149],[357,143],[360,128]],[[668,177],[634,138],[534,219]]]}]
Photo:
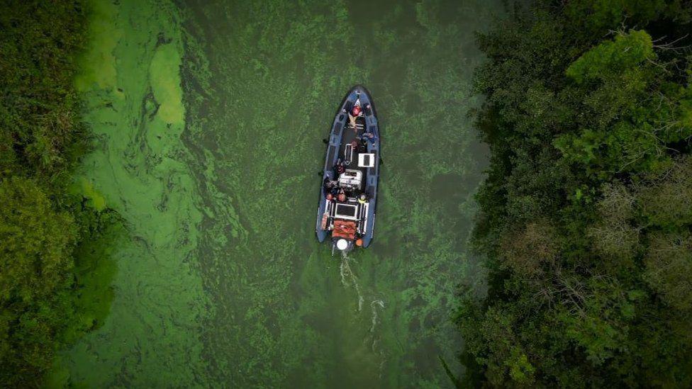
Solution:
[{"label": "darker, thinly streaked water around the boat, without the bright algae band", "polygon": [[[461,374],[455,292],[483,282],[465,244],[485,163],[467,117],[474,30],[498,3],[186,2],[215,382],[438,388]],[[372,92],[384,164],[374,243],[341,259],[315,238],[316,172],[354,84]]]}]

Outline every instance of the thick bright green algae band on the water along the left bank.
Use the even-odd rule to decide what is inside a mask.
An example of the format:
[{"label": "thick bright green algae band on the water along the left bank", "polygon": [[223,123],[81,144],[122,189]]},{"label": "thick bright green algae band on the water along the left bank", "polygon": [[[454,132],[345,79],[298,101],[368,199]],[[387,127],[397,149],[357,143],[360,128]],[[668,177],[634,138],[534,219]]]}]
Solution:
[{"label": "thick bright green algae band on the water along the left bank", "polygon": [[93,1],[91,44],[75,80],[94,132],[77,178],[128,232],[111,315],[69,351],[70,379],[93,387],[201,383],[199,326],[208,315],[190,261],[201,213],[186,149],[177,9],[168,1]]}]

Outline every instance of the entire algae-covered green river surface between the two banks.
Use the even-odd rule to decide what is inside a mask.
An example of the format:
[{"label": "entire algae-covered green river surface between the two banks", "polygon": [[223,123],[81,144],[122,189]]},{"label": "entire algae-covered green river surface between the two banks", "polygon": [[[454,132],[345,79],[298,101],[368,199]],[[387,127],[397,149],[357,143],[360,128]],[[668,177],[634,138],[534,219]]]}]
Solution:
[{"label": "entire algae-covered green river surface between the two banks", "polygon": [[[474,46],[500,1],[94,1],[77,182],[128,234],[104,325],[60,377],[103,386],[450,387],[485,150]],[[374,243],[314,236],[326,137],[364,84]],[[444,363],[443,363],[444,362]]]}]

